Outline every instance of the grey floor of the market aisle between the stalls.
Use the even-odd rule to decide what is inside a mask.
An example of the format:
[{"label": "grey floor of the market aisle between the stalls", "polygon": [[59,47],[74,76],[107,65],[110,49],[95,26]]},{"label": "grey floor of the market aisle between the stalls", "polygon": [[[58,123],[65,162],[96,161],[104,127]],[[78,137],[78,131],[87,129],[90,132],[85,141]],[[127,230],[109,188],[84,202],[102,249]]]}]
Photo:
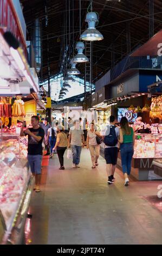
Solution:
[{"label": "grey floor of the market aisle between the stalls", "polygon": [[67,159],[64,166],[58,169],[55,155],[43,167],[42,192],[34,192],[30,204],[28,244],[162,244],[161,212],[147,200],[153,198],[162,211],[162,181],[132,180],[125,187],[117,170],[116,181],[107,185],[105,160],[100,157],[92,169],[87,149],[82,168],[72,168]]}]

